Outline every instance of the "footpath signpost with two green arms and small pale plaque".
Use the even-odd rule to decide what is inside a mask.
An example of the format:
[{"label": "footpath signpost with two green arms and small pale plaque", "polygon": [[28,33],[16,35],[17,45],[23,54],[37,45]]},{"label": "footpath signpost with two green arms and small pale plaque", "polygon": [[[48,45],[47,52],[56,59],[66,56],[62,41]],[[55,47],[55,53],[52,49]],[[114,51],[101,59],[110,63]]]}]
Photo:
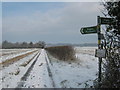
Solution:
[{"label": "footpath signpost with two green arms and small pale plaque", "polygon": [[96,55],[99,60],[99,74],[98,74],[98,82],[100,87],[101,82],[101,63],[102,58],[105,58],[105,50],[103,49],[103,45],[101,44],[102,34],[101,34],[101,25],[110,25],[113,22],[113,18],[105,18],[105,17],[97,17],[97,26],[93,27],[83,27],[80,29],[81,34],[98,34],[98,49],[96,50]]}]

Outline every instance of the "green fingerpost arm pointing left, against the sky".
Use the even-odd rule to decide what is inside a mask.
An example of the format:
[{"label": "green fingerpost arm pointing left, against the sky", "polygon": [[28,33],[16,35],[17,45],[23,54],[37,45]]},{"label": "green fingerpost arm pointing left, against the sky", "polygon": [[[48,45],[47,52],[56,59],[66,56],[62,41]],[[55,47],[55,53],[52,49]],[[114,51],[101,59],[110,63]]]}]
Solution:
[{"label": "green fingerpost arm pointing left, against the sky", "polygon": [[97,33],[97,26],[81,28],[81,29],[80,29],[80,32],[81,32],[82,34],[93,34],[93,33]]}]

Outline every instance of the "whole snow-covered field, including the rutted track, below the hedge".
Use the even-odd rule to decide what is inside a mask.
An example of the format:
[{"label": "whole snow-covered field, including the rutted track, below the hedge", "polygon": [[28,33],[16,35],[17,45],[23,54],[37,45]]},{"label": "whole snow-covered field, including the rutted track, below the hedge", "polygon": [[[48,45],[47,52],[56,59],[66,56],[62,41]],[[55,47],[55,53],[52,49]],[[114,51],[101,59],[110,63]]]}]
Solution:
[{"label": "whole snow-covered field, including the rutted track, below the hedge", "polygon": [[75,47],[74,61],[57,60],[44,49],[4,50],[9,54],[0,62],[35,52],[0,70],[0,88],[89,88],[97,78],[96,48]]}]

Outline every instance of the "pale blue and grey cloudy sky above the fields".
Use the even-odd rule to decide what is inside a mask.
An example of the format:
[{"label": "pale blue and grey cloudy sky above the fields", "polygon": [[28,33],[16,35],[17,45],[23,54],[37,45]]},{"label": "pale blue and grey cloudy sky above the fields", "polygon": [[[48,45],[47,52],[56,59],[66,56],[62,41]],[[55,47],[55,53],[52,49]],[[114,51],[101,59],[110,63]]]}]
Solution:
[{"label": "pale blue and grey cloudy sky above the fields", "polygon": [[3,2],[2,40],[11,42],[97,43],[97,35],[81,35],[102,16],[99,2]]}]

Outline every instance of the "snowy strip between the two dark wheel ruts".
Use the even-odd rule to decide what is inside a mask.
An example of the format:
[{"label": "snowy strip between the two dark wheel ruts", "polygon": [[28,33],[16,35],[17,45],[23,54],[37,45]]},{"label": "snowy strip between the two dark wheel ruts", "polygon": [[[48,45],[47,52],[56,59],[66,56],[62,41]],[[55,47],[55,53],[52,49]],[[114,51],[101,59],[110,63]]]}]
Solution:
[{"label": "snowy strip between the two dark wheel ruts", "polygon": [[45,50],[42,49],[40,56],[30,76],[25,82],[25,88],[52,88],[52,81],[49,77],[47,62],[45,60]]}]

